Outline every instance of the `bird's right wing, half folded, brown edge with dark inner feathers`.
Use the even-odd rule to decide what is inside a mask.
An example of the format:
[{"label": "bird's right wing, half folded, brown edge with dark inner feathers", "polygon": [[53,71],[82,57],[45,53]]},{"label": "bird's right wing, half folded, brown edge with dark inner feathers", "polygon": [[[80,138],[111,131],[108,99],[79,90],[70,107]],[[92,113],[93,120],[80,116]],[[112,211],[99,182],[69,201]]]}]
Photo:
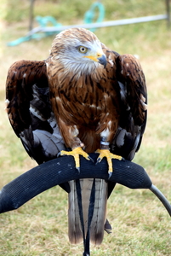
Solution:
[{"label": "bird's right wing, half folded, brown edge with dark inner feathers", "polygon": [[117,82],[121,96],[121,116],[117,134],[111,145],[115,154],[132,160],[140,148],[146,125],[147,93],[145,75],[134,55],[119,55]]}]

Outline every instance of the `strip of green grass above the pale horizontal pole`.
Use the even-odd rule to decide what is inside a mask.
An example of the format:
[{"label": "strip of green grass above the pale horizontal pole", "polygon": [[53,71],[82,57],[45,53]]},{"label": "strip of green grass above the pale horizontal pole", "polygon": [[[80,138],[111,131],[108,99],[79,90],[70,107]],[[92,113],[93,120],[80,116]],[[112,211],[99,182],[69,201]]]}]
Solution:
[{"label": "strip of green grass above the pale horizontal pole", "polygon": [[[95,1],[87,0],[80,3],[79,0],[43,1],[37,0],[34,4],[34,15],[52,15],[61,23],[73,20],[83,20],[83,15]],[[105,7],[105,20],[118,20],[146,15],[160,15],[165,13],[165,2],[154,0],[148,3],[142,0],[111,1],[103,2]],[[25,0],[2,0],[0,17],[9,23],[26,20],[29,15],[30,1]]]}]

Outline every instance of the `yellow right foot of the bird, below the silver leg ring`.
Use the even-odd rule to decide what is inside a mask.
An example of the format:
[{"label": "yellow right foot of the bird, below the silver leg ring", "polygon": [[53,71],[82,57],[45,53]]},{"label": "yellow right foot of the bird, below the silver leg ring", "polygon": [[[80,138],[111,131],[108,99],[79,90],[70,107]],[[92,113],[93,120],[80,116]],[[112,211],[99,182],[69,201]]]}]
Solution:
[{"label": "yellow right foot of the bird, below the silver leg ring", "polygon": [[122,160],[122,159],[123,159],[122,156],[117,155],[117,154],[112,154],[109,149],[97,149],[97,150],[95,151],[95,153],[100,154],[99,157],[98,157],[98,159],[97,159],[96,165],[97,165],[98,163],[100,163],[100,161],[101,161],[104,157],[106,157],[107,163],[108,163],[108,173],[109,173],[109,178],[110,178],[110,177],[111,177],[111,174],[112,174],[112,172],[113,172],[112,159]]}]

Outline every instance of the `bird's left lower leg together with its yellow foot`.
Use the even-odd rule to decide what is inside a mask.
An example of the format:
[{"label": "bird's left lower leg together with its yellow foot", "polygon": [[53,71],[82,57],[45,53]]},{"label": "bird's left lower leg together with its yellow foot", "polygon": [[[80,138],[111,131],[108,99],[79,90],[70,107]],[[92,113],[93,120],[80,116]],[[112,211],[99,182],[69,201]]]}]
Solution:
[{"label": "bird's left lower leg together with its yellow foot", "polygon": [[[92,160],[92,158],[83,151],[84,144],[80,141],[78,137],[73,137],[71,143],[71,151],[61,150],[60,155],[71,155],[73,156],[76,164],[77,171],[80,172],[80,159],[79,155],[82,155],[86,160]],[[94,160],[92,160],[94,162]]]}]

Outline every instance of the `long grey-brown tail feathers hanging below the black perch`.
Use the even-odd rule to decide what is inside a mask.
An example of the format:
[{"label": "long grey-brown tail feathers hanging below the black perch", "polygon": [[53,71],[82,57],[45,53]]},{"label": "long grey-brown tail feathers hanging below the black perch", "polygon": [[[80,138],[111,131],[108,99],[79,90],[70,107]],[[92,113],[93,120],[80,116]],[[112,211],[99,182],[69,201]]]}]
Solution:
[{"label": "long grey-brown tail feathers hanging below the black perch", "polygon": [[[81,198],[83,208],[83,228],[80,221],[80,212],[77,201],[76,181],[71,181],[71,192],[69,194],[69,210],[68,210],[68,236],[73,244],[83,241],[83,237],[87,236],[88,231],[88,209],[90,203],[90,195],[93,178],[80,179]],[[104,225],[106,215],[107,202],[107,183],[103,179],[95,179],[95,196],[93,218],[90,224],[90,241],[95,245],[100,245],[104,236]],[[84,234],[83,234],[84,233]]]}]

